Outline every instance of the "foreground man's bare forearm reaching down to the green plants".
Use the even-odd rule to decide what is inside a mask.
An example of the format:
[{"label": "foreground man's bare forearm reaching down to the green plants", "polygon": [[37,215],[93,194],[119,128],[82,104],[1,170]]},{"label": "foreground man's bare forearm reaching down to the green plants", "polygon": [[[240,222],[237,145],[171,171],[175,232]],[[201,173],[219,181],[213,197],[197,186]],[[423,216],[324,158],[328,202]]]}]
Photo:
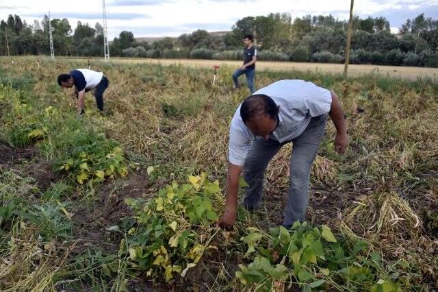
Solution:
[{"label": "foreground man's bare forearm reaching down to the green plants", "polygon": [[242,165],[233,165],[231,162],[228,162],[225,210],[219,220],[219,225],[222,228],[229,229],[233,227],[237,218],[237,192],[239,191],[239,177],[242,170]]}]

